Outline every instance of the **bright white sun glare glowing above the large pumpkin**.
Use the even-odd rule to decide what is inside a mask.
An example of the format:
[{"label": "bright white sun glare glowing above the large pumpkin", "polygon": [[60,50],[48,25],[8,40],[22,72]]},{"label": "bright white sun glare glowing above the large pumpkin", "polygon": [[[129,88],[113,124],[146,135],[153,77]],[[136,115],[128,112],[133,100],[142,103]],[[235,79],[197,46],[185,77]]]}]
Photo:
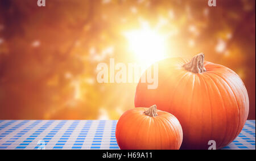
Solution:
[{"label": "bright white sun glare glowing above the large pumpkin", "polygon": [[141,29],[125,32],[129,49],[147,65],[162,60],[166,54],[166,37],[144,24]]}]

